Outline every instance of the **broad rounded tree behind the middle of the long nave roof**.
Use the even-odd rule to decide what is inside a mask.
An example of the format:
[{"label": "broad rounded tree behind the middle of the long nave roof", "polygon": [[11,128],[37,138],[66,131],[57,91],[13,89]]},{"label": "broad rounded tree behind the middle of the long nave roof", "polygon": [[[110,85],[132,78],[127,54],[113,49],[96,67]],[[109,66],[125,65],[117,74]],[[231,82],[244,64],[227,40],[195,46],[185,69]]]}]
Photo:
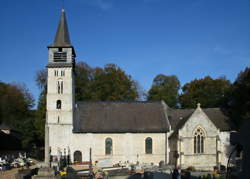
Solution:
[{"label": "broad rounded tree behind the middle of the long nave roof", "polygon": [[91,100],[136,100],[138,92],[135,81],[115,64],[95,68],[90,85]]}]

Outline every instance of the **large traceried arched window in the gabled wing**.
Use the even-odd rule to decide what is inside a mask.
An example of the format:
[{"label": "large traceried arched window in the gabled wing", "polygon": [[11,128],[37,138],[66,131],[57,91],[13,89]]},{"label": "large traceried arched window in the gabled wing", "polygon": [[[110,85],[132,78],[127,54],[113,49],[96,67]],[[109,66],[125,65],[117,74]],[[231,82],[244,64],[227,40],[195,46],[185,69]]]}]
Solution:
[{"label": "large traceried arched window in the gabled wing", "polygon": [[204,153],[205,134],[201,128],[196,129],[194,133],[194,153]]}]

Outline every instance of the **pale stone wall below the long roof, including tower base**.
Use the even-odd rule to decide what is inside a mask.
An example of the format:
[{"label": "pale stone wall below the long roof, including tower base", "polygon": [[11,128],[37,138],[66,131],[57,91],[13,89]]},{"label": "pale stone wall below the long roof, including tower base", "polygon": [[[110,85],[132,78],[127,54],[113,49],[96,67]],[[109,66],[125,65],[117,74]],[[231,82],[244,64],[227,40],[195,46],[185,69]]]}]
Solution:
[{"label": "pale stone wall below the long roof, including tower base", "polygon": [[[154,163],[165,161],[165,133],[117,133],[117,134],[73,134],[71,125],[50,125],[51,155],[57,155],[58,149],[70,148],[71,159],[73,153],[81,151],[83,161],[89,161],[89,150],[92,148],[92,160],[111,159],[113,164],[129,161],[130,163]],[[145,139],[153,140],[153,153],[145,153]],[[113,142],[112,155],[105,155],[105,139]]]}]

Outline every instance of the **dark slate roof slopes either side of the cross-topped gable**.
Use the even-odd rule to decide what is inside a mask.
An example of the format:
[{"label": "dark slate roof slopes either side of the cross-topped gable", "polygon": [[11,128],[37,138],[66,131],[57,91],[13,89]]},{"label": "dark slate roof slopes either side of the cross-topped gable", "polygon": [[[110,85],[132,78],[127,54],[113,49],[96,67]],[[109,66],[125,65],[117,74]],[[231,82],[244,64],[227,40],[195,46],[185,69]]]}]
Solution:
[{"label": "dark slate roof slopes either side of the cross-topped gable", "polygon": [[[232,130],[228,117],[221,111],[220,108],[204,108],[202,109],[213,124],[221,131]],[[174,130],[171,137],[176,136],[178,130],[181,129],[187,122],[189,117],[193,114],[195,109],[170,109],[169,110],[169,122]]]}]

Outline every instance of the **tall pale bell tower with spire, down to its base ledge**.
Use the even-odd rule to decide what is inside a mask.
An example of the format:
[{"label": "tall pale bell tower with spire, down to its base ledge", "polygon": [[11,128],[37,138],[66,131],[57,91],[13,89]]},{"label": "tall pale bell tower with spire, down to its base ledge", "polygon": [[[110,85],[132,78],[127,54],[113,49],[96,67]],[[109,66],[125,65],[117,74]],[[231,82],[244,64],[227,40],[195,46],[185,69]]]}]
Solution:
[{"label": "tall pale bell tower with spire, down to its base ledge", "polygon": [[75,50],[62,9],[54,42],[48,46],[47,124],[72,127],[74,118]]}]

